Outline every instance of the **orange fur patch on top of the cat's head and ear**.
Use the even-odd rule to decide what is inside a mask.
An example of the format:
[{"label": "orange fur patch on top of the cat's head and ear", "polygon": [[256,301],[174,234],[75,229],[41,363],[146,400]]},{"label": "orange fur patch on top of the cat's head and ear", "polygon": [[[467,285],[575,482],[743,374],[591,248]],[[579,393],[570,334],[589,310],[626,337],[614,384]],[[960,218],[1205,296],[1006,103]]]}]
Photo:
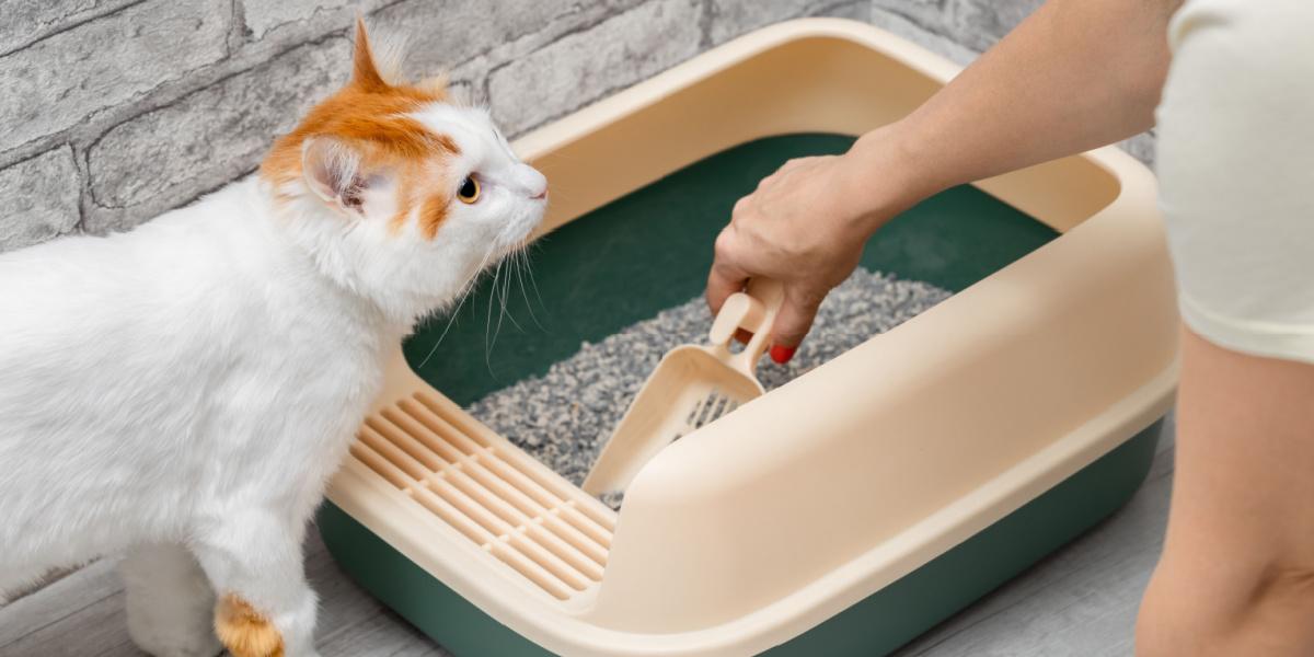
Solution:
[{"label": "orange fur patch on top of the cat's head and ear", "polygon": [[[435,160],[461,154],[449,135],[435,134],[409,117],[430,102],[445,100],[447,91],[442,79],[419,85],[384,80],[371,53],[365,25],[360,21],[356,25],[352,67],[352,79],[346,88],[311,109],[301,125],[275,142],[260,164],[260,176],[276,187],[294,181],[301,177],[301,147],[307,138],[323,135],[340,139],[360,152],[364,168],[401,172],[398,212],[390,222],[397,231],[414,208],[438,202],[434,196],[422,197],[418,193],[424,188],[418,180],[419,173],[432,171]],[[422,222],[432,222],[435,217],[442,221],[436,212],[424,212]],[[436,234],[436,223],[432,229],[424,226],[427,223],[422,223],[426,235]]]}]

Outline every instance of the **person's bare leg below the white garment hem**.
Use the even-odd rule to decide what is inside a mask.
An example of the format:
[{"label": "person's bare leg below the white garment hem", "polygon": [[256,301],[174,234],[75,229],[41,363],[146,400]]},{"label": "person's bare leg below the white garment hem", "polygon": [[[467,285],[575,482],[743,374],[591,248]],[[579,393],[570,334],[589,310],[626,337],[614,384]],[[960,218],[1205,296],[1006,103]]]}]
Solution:
[{"label": "person's bare leg below the white garment hem", "polygon": [[1314,365],[1187,331],[1177,423],[1137,653],[1314,654]]}]

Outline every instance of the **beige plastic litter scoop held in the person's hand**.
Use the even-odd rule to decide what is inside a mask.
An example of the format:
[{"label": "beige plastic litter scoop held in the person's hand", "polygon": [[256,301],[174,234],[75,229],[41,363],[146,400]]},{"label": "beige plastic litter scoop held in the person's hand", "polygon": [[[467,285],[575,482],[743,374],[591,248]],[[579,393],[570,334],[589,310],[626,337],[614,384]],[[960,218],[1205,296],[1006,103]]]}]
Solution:
[{"label": "beige plastic litter scoop held in the person's hand", "polygon": [[[710,346],[682,344],[662,356],[583,480],[591,495],[619,493],[670,443],[766,392],[754,371],[766,351],[784,289],[754,279],[725,300],[708,331]],[[753,338],[738,352],[738,328]]]}]

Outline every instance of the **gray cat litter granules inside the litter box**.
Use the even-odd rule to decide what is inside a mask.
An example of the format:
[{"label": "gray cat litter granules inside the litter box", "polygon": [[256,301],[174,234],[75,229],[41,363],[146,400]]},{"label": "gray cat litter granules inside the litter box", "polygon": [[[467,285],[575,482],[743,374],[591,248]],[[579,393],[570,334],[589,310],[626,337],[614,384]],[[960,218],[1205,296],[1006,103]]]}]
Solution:
[{"label": "gray cat litter granules inside the litter box", "polygon": [[[767,390],[888,331],[950,296],[934,285],[858,268],[821,304],[794,359],[763,357],[757,377]],[[474,402],[472,415],[577,486],[611,438],[657,361],[681,344],[706,344],[712,315],[702,297],[664,310],[576,355]],[[604,499],[619,507],[619,497]]]}]

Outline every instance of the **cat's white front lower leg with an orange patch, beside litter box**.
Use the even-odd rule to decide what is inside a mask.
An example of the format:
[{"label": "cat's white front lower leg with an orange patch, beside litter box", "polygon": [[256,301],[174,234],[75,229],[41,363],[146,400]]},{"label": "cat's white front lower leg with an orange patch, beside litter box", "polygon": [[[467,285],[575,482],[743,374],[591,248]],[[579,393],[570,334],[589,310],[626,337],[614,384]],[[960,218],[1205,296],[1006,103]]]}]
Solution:
[{"label": "cat's white front lower leg with an orange patch, beside litter box", "polygon": [[275,511],[226,518],[197,541],[218,594],[214,629],[233,657],[317,657],[317,599],[301,558],[305,526]]}]

